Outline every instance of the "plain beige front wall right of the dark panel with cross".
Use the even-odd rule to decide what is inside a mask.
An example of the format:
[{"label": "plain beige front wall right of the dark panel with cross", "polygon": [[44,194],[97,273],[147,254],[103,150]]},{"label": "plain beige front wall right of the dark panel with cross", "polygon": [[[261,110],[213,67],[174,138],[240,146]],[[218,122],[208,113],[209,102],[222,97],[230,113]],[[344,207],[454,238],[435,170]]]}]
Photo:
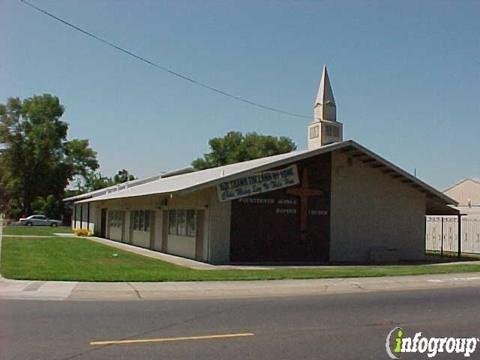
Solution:
[{"label": "plain beige front wall right of the dark panel with cross", "polygon": [[370,260],[376,247],[424,258],[425,195],[347,155],[332,154],[331,261]]}]

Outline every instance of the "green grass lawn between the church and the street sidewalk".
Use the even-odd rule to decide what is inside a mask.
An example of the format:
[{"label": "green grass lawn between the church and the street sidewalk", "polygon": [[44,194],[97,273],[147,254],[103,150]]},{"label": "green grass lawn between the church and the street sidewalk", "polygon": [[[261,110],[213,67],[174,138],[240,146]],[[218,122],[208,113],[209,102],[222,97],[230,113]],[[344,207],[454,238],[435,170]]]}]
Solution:
[{"label": "green grass lawn between the church and the street sidewalk", "polygon": [[[117,256],[114,256],[117,254]],[[78,281],[267,280],[480,271],[480,265],[328,266],[274,270],[191,270],[86,238],[4,238],[1,274],[10,279]]]}]

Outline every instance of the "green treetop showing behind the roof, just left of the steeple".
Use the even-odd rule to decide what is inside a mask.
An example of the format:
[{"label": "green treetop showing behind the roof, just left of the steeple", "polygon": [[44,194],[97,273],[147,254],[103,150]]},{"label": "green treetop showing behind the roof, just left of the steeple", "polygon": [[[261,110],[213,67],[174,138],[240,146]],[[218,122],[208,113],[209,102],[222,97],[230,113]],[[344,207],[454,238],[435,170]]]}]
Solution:
[{"label": "green treetop showing behind the roof, just left of the steeple", "polygon": [[231,131],[221,138],[210,139],[208,144],[211,151],[192,162],[192,166],[197,170],[284,154],[297,148],[295,143],[285,136],[259,135],[255,132],[243,135],[237,131]]}]

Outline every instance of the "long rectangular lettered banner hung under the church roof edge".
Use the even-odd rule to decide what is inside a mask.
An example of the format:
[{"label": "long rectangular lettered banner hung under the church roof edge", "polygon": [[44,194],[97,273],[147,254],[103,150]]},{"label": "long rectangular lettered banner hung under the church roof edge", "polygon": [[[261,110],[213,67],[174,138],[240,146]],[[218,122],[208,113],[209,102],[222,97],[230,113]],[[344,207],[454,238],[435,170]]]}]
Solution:
[{"label": "long rectangular lettered banner hung under the church roof edge", "polygon": [[286,188],[300,183],[297,165],[284,169],[248,175],[217,185],[220,201],[239,199],[245,196]]}]

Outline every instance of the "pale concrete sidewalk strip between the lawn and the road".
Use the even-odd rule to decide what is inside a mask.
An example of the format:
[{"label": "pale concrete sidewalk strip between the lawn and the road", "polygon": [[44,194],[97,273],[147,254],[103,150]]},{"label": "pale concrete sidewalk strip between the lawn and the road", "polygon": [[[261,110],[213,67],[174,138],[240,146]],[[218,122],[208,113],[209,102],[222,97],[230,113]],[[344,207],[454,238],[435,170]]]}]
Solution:
[{"label": "pale concrete sidewalk strip between the lawn and the road", "polygon": [[0,299],[182,300],[323,296],[384,291],[480,287],[478,273],[315,280],[92,283],[0,278]]}]

